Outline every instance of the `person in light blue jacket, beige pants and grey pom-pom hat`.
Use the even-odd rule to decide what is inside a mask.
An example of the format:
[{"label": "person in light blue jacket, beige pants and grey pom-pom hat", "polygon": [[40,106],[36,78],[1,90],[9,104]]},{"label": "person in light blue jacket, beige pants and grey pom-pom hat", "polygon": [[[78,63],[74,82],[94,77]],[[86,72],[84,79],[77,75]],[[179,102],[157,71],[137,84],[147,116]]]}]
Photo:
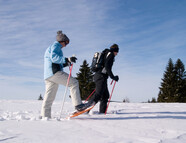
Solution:
[{"label": "person in light blue jacket, beige pants and grey pom-pom hat", "polygon": [[[63,55],[62,48],[69,44],[69,38],[62,33],[57,32],[56,41],[46,49],[44,55],[44,80],[45,95],[41,109],[41,117],[51,118],[51,107],[56,97],[59,84],[66,86],[69,74],[63,71],[63,68],[72,62],[76,62],[76,57],[66,58]],[[78,81],[71,77],[69,80],[72,104],[75,109],[82,111],[87,107],[82,104],[79,92]]]}]

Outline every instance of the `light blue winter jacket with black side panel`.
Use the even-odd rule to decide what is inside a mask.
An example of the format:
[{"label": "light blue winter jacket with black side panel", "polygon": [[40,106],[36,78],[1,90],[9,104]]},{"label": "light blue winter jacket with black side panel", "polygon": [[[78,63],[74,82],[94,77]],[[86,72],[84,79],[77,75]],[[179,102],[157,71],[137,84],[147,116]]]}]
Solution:
[{"label": "light blue winter jacket with black side panel", "polygon": [[55,41],[46,49],[44,55],[44,79],[53,76],[57,71],[63,71],[65,57],[61,48],[62,45]]}]

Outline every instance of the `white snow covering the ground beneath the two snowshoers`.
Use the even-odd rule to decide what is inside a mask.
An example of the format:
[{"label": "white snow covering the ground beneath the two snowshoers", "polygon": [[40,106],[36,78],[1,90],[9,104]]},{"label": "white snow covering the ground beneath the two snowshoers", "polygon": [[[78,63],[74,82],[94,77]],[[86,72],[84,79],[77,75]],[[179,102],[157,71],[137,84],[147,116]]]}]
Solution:
[{"label": "white snow covering the ground beneath the two snowshoers", "polygon": [[39,119],[42,101],[0,100],[0,142],[3,143],[185,143],[186,104],[116,103],[108,114],[89,114],[67,120],[73,111],[66,102],[52,108],[52,119]]}]

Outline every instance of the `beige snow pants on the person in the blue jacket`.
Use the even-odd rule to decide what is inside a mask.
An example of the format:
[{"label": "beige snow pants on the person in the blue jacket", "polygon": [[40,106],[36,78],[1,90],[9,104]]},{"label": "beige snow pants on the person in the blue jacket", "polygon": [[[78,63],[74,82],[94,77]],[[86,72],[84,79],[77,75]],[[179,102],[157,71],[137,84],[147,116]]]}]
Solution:
[{"label": "beige snow pants on the person in the blue jacket", "polygon": [[[41,109],[42,117],[51,118],[51,107],[56,97],[58,86],[59,84],[66,86],[68,76],[69,74],[63,71],[58,71],[52,77],[45,80],[45,96],[44,96],[42,109]],[[72,104],[74,106],[81,104],[82,101],[80,97],[78,81],[75,78],[70,77],[68,87],[70,88]]]}]

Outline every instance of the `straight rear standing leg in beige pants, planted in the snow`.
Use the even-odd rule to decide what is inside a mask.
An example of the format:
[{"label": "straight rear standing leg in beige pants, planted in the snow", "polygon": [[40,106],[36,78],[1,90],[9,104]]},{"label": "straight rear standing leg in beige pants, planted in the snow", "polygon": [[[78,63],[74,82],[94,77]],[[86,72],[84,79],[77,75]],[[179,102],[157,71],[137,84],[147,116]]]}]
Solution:
[{"label": "straight rear standing leg in beige pants, planted in the snow", "polygon": [[41,109],[41,116],[51,118],[51,107],[56,97],[58,90],[58,84],[45,80],[45,96]]}]

